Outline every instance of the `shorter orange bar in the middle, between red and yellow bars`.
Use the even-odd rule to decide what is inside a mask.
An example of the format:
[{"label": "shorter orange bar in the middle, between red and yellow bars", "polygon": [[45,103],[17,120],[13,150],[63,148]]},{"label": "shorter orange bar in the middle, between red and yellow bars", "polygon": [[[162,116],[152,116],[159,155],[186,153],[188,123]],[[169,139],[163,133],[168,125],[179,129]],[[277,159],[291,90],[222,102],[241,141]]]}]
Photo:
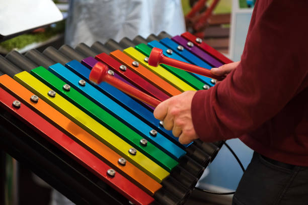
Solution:
[{"label": "shorter orange bar in the middle, between red and yellow bars", "polygon": [[181,94],[182,92],[163,80],[161,77],[156,75],[155,73],[151,72],[149,69],[143,67],[142,65],[139,64],[138,67],[135,67],[132,65],[132,62],[134,59],[130,58],[128,55],[123,53],[120,50],[115,50],[109,54],[116,60],[120,61],[121,63],[125,64],[126,67],[129,67],[130,70],[134,71],[138,75],[140,75],[142,78],[146,79],[149,83],[152,85],[156,86],[169,96],[174,96],[177,94]]}]

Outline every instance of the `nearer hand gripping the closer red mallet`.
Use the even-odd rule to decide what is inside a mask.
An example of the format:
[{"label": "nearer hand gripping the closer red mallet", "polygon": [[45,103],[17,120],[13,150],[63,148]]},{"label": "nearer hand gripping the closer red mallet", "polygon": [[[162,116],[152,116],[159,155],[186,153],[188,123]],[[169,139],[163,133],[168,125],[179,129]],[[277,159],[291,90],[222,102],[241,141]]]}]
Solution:
[{"label": "nearer hand gripping the closer red mallet", "polygon": [[172,130],[181,144],[188,144],[199,137],[191,118],[191,101],[196,91],[186,91],[163,101],[154,111],[154,117],[164,121],[164,128]]}]

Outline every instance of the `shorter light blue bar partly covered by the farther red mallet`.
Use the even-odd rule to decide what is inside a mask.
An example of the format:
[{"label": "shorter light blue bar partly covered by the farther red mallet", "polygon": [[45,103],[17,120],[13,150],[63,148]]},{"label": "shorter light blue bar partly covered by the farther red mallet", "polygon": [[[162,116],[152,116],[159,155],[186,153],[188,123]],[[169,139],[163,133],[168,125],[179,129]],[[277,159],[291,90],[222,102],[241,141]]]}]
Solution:
[{"label": "shorter light blue bar partly covered by the farther red mallet", "polygon": [[[172,41],[171,39],[169,39],[169,40]],[[172,42],[174,42],[174,41],[172,41]],[[177,52],[176,52],[178,50],[177,46],[171,48],[171,50],[173,50],[174,52],[172,54],[169,54],[169,53],[167,53],[167,49],[168,48],[166,46],[164,46],[162,43],[158,42],[158,41],[151,41],[151,42],[147,43],[147,45],[149,47],[151,47],[151,48],[156,47],[156,48],[162,49],[164,55],[167,56],[167,57],[170,57],[170,58],[173,58],[173,59],[176,59],[176,60],[180,60],[180,61],[183,61],[183,62],[186,62],[186,63],[193,63],[193,64],[195,64],[195,62],[188,61],[188,60],[184,59],[183,57],[179,56],[177,54]],[[194,54],[192,54],[191,52],[189,52],[187,50],[186,50],[186,54],[190,55],[190,57],[192,57],[192,56],[194,56],[194,58],[197,57],[197,56],[195,56]],[[205,63],[204,61],[202,61],[202,62],[203,62],[202,66],[201,65],[198,65],[198,66],[204,67],[204,68],[207,68],[207,69],[211,68],[211,66],[209,64]],[[195,65],[197,65],[197,64],[195,64]],[[205,77],[203,75],[199,75],[199,74],[196,74],[196,73],[191,73],[191,72],[189,72],[189,73],[192,74],[193,76],[195,76],[196,78],[198,78],[199,80],[203,81],[204,83],[208,84],[209,86],[214,86],[215,85],[215,84],[213,84],[211,82],[211,78],[209,78],[209,77]]]}]

